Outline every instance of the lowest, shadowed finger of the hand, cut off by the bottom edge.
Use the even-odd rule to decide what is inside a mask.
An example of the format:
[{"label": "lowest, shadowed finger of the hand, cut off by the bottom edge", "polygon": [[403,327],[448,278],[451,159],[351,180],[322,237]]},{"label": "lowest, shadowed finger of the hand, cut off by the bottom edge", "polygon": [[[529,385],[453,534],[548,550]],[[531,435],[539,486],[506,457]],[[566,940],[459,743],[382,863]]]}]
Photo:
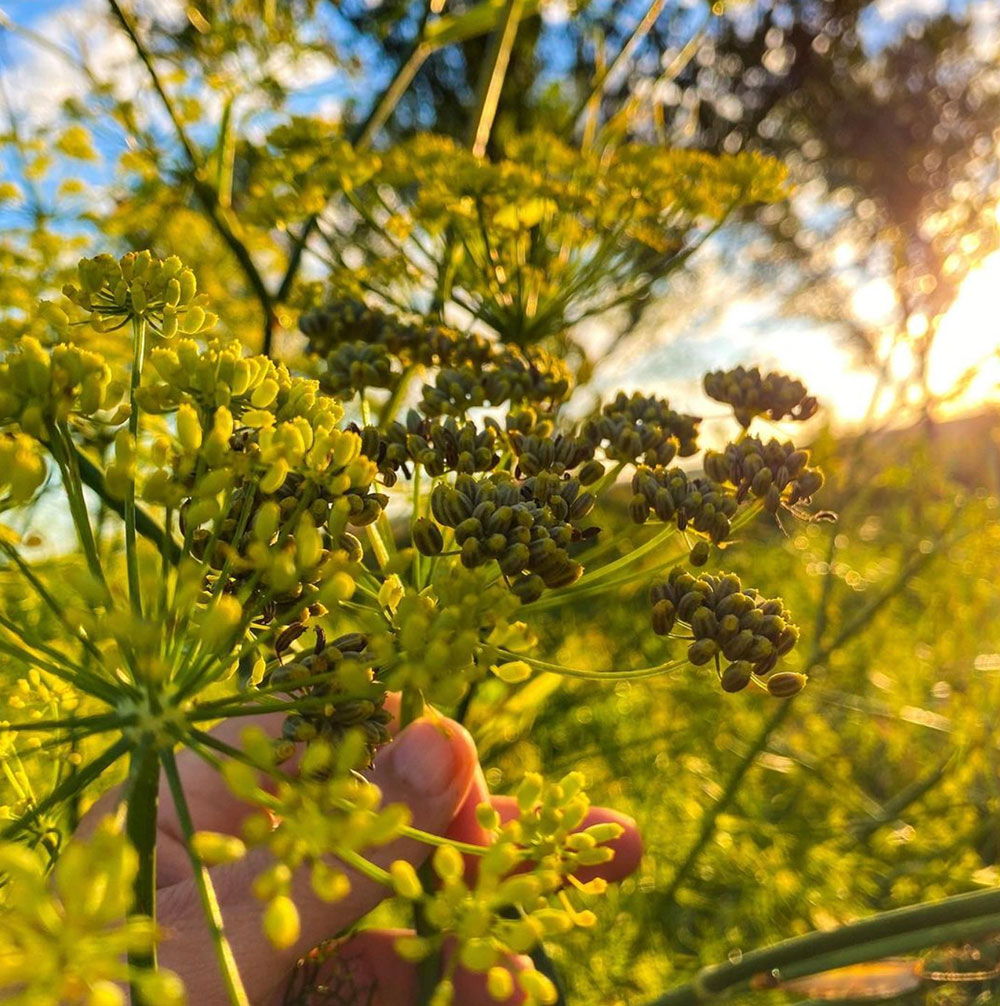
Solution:
[{"label": "lowest, shadowed finger of the hand, cut off by the bottom edge", "polygon": [[[407,930],[365,930],[338,943],[318,967],[303,969],[300,976],[335,990],[344,1002],[370,1003],[370,1006],[412,1006],[419,1001],[420,975],[416,966],[395,952],[395,941],[411,935]],[[446,949],[444,970],[447,973],[451,952]],[[501,967],[516,976],[533,968],[531,959],[509,955]],[[516,1006],[524,997],[515,991],[507,999],[490,996],[486,976],[459,967],[455,970],[454,1002],[462,1006]],[[341,1001],[338,999],[338,1001]]]}]

